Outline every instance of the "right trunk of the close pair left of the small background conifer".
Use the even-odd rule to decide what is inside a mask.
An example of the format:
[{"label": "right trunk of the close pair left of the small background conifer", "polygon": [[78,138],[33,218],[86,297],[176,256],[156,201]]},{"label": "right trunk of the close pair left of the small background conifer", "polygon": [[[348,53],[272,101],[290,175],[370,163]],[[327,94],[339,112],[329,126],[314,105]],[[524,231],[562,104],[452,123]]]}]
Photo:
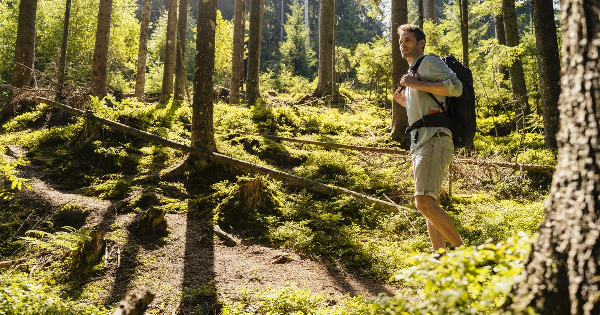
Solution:
[{"label": "right trunk of the close pair left of the small background conifer", "polygon": [[253,106],[260,98],[260,43],[265,0],[250,1],[250,37],[248,38],[248,74],[246,101]]}]

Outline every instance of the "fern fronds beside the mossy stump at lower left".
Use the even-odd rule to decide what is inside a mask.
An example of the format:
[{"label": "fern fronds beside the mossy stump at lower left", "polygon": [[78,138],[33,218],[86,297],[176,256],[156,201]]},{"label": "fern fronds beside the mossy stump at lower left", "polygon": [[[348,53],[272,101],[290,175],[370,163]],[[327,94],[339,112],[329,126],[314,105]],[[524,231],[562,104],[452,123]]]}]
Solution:
[{"label": "fern fronds beside the mossy stump at lower left", "polygon": [[[83,247],[85,242],[92,239],[88,236],[89,230],[77,230],[70,226],[63,227],[67,232],[48,233],[43,231],[31,230],[25,233],[26,236],[20,238],[27,245],[37,250],[47,250],[50,253],[61,256],[62,254],[77,253]],[[27,236],[27,235],[32,235]]]}]

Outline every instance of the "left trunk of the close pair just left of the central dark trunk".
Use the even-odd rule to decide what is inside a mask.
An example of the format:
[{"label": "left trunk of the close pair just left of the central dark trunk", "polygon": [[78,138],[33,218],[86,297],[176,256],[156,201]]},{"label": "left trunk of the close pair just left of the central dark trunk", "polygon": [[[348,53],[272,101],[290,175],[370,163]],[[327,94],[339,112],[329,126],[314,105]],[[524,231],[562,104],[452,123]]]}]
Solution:
[{"label": "left trunk of the close pair just left of the central dark trunk", "polygon": [[163,100],[173,95],[173,75],[175,74],[175,40],[177,37],[177,0],[169,0],[167,19],[167,47],[164,54],[163,88],[160,96]]}]

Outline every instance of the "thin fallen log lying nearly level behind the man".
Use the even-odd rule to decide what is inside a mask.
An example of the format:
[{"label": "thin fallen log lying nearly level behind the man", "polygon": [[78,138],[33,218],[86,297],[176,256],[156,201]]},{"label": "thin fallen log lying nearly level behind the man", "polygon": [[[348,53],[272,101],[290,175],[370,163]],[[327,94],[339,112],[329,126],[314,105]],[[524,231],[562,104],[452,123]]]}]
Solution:
[{"label": "thin fallen log lying nearly level behind the man", "polygon": [[[317,145],[322,146],[323,148],[333,148],[333,149],[346,149],[353,151],[365,151],[365,152],[375,152],[375,153],[383,153],[383,154],[392,154],[392,155],[410,155],[409,151],[404,151],[401,149],[388,149],[388,148],[373,148],[370,146],[355,146],[355,145],[340,145],[338,143],[329,143],[329,142],[320,142],[313,140],[301,140],[280,136],[271,136],[270,134],[262,134],[262,133],[249,133],[247,131],[238,131],[238,130],[230,130],[226,129],[232,133],[239,134],[247,134],[249,136],[259,136],[266,139],[271,140],[280,140],[286,142],[295,142],[295,143],[303,143],[305,145]],[[488,161],[488,160],[472,160],[467,158],[454,158],[454,162],[463,163],[463,164],[471,164],[471,165],[479,165],[479,166],[496,166],[503,167],[505,169],[514,169],[514,170],[523,170],[527,172],[538,172],[538,173],[553,173],[554,167],[543,166],[543,165],[535,165],[535,164],[517,164],[510,162],[502,162],[502,161]]]}]

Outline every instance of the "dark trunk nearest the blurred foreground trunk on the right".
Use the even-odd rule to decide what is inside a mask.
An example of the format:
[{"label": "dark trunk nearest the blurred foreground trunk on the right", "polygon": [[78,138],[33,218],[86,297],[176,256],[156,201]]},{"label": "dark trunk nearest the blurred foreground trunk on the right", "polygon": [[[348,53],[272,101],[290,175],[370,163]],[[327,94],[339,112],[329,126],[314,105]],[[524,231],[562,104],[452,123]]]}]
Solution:
[{"label": "dark trunk nearest the blurred foreground trunk on the right", "polygon": [[557,148],[559,131],[560,58],[552,0],[533,1],[535,40],[538,46],[538,73],[544,112],[546,148]]}]

